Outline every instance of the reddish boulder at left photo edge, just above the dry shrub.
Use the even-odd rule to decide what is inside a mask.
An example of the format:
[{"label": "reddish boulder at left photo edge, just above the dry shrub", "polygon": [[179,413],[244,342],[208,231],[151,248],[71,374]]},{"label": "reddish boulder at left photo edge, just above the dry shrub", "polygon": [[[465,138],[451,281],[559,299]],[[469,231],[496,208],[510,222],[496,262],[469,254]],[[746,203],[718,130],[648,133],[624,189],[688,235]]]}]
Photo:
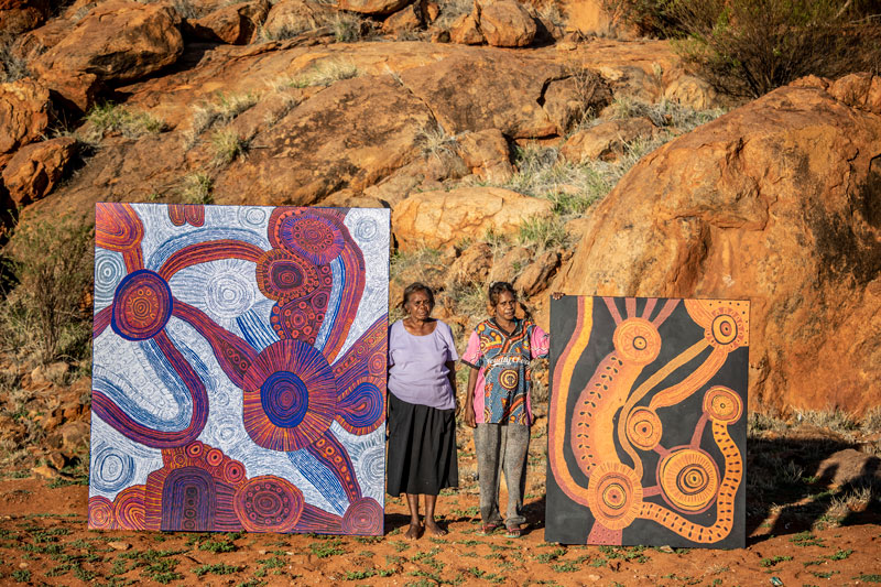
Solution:
[{"label": "reddish boulder at left photo edge, just above the dry shrub", "polygon": [[3,169],[9,197],[18,205],[36,202],[55,187],[76,155],[72,137],[50,139],[19,150]]}]

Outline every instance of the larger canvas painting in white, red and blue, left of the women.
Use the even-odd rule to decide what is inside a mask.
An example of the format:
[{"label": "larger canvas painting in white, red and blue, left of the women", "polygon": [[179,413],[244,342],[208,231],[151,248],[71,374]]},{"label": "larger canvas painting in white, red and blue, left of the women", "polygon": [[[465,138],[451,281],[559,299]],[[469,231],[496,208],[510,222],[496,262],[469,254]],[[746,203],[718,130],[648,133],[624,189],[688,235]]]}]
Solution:
[{"label": "larger canvas painting in white, red and blue, left of the women", "polygon": [[381,534],[389,213],[98,204],[89,528]]}]

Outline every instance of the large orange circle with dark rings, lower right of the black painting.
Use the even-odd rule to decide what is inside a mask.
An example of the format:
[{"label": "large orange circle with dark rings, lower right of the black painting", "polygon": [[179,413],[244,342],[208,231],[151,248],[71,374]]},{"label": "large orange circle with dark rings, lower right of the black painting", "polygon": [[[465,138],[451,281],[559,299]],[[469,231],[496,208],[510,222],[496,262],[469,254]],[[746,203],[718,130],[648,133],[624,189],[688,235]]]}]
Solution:
[{"label": "large orange circle with dark rings, lower right of the black painting", "polygon": [[667,503],[685,512],[701,511],[719,490],[716,463],[703,450],[694,448],[683,448],[661,459],[657,480]]}]

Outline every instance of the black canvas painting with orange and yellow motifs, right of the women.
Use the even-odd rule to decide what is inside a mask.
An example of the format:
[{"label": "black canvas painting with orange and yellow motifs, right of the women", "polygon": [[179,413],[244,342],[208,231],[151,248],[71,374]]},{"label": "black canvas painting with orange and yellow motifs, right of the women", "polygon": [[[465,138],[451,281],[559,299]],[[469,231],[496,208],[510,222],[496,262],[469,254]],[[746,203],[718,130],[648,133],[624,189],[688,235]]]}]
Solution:
[{"label": "black canvas painting with orange and yellow motifs, right of the women", "polygon": [[545,539],[742,547],[749,302],[564,296],[551,331]]}]

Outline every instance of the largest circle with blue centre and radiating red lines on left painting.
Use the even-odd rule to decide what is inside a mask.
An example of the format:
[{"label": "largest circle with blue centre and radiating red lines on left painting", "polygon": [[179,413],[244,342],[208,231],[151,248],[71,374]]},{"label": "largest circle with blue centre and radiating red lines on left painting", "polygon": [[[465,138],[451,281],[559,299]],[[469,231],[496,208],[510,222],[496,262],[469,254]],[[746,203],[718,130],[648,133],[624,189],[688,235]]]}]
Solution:
[{"label": "largest circle with blue centre and radiating red lines on left painting", "polygon": [[271,450],[315,442],[337,415],[337,382],[324,355],[300,340],[273,343],[243,378],[242,421],[251,439]]}]

